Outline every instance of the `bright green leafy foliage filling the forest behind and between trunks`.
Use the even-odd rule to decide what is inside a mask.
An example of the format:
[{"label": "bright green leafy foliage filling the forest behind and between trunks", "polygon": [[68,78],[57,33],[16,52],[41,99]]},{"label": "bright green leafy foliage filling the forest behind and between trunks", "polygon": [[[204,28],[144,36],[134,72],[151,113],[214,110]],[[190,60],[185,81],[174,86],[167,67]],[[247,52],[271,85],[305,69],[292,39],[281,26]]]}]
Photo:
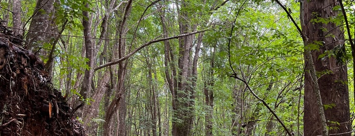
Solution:
[{"label": "bright green leafy foliage filling the forest behind and between trunks", "polygon": [[[110,16],[106,20],[108,21],[108,32],[104,38],[106,47],[98,45],[95,48],[96,60],[93,61],[95,65],[101,65],[118,58],[117,52],[119,50],[117,46],[119,40],[124,39],[122,40],[123,45],[127,47],[124,51],[120,51],[127,54],[127,52],[131,52],[144,43],[163,37],[163,26],[160,18],[163,13],[159,13],[158,10],[164,10],[169,36],[175,36],[180,32],[179,19],[185,19],[184,23],[196,24],[198,30],[209,28],[204,33],[201,51],[194,51],[198,38],[198,35],[196,35],[191,47],[193,51],[189,55],[191,58],[196,53],[200,56],[197,85],[193,94],[195,97],[180,99],[195,101],[192,106],[195,109],[193,112],[195,113],[195,120],[192,128],[194,135],[205,134],[205,118],[208,114],[204,94],[206,88],[213,92],[212,133],[214,135],[232,135],[237,129],[242,132],[242,135],[285,134],[281,125],[275,121],[270,112],[247,91],[246,85],[230,78],[233,72],[247,81],[252,91],[266,101],[289,129],[295,131],[295,133],[297,131],[298,135],[303,134],[303,41],[287,15],[273,3],[274,1],[247,1],[245,5],[243,5],[244,1],[230,1],[220,7],[216,6],[218,7],[216,10],[211,10],[211,6],[220,5],[223,1],[207,1],[207,4],[200,1],[186,1],[186,5],[160,1],[147,9],[139,23],[143,11],[151,2],[134,1],[131,14],[127,18],[127,25],[124,28],[126,30],[126,33],[123,33],[124,35],[118,33],[118,29],[121,28],[120,23],[125,10],[125,1],[117,1],[114,4],[116,9],[113,11],[107,11],[110,5],[109,1],[85,0],[85,2],[90,4],[90,8],[85,8],[83,1],[74,0],[60,0],[55,5],[57,8],[55,12],[56,25],[61,25],[65,20],[68,20],[68,25],[65,27],[63,36],[61,36],[55,49],[52,82],[55,87],[62,90],[63,94],[69,96],[69,101],[72,101],[73,104],[75,104],[76,97],[88,104],[93,100],[100,101],[99,117],[91,118],[92,123],[99,124],[97,126],[98,132],[103,131],[104,115],[109,102],[116,94],[121,94],[121,92],[116,92],[117,86],[114,86],[117,85],[119,66],[105,67],[105,70],[111,71],[111,75],[104,86],[107,94],[102,96],[101,99],[83,98],[79,94],[78,90],[80,90],[79,87],[85,70],[94,68],[86,64],[89,59],[84,57],[82,11],[88,11],[92,16],[92,18],[84,19],[92,22],[94,45],[99,43],[99,40],[103,40],[99,37],[103,29],[100,24],[103,22],[105,13]],[[23,21],[30,18],[34,11],[34,3],[22,1],[22,9],[27,11],[22,13]],[[121,5],[116,7],[120,3]],[[294,18],[298,18],[299,4],[295,1],[284,1],[284,3]],[[241,7],[242,5],[243,7]],[[351,9],[350,5],[350,1],[345,2],[348,10]],[[9,12],[4,7],[9,7],[9,4],[2,1],[1,6],[2,18],[5,18]],[[180,8],[181,12],[191,16],[191,19],[179,18],[177,7]],[[333,10],[341,9],[335,6]],[[354,18],[353,14],[350,13],[348,17],[350,20]],[[234,22],[235,18],[236,21]],[[314,18],[311,20],[312,23],[333,22],[338,25],[341,25],[342,21],[343,15],[336,18]],[[233,29],[232,25],[234,26]],[[231,31],[232,37],[230,37]],[[350,31],[354,32],[353,27]],[[119,35],[123,35],[123,38],[119,39]],[[229,40],[231,40],[230,48],[227,46]],[[178,46],[179,40],[173,39],[169,42],[172,48],[172,54],[170,55],[179,57],[177,54],[182,49]],[[316,41],[308,44],[305,49],[315,51],[319,50],[322,45],[324,43]],[[51,45],[49,44],[43,45],[44,50],[50,48]],[[128,135],[148,135],[153,134],[154,131],[163,135],[172,134],[172,121],[176,119],[173,118],[173,98],[166,79],[165,69],[167,65],[164,64],[164,49],[163,42],[155,43],[124,61],[126,64],[126,79],[122,94],[125,95],[126,100],[126,118],[124,120],[126,126],[123,127],[125,127]],[[215,56],[212,55],[212,52],[215,52]],[[339,48],[335,50],[324,52],[317,59],[325,59],[330,56],[336,56],[341,63],[348,63],[349,90],[353,90],[350,85],[353,83],[350,80],[353,77],[353,73],[351,73],[352,64],[348,62],[352,58],[347,41],[345,41],[344,46],[339,45]],[[43,58],[47,58],[47,56],[43,56]],[[177,65],[179,60],[178,58],[175,59],[171,63]],[[211,62],[214,62],[214,67],[211,67]],[[104,76],[105,70],[95,71],[92,80],[94,91],[88,92],[89,96],[93,96],[96,93],[95,91],[98,90],[96,87],[99,87],[99,81]],[[211,71],[214,73],[211,74]],[[329,73],[317,74],[321,76]],[[214,84],[205,85],[206,81],[210,79],[214,81]],[[353,99],[352,93],[350,93],[350,97]],[[350,101],[351,112],[355,114],[354,102],[353,100]],[[324,105],[325,109],[333,107],[335,105]],[[153,115],[156,115],[158,119],[153,119]],[[245,125],[248,122],[253,123],[250,123],[249,126]],[[114,125],[117,125],[117,122]],[[157,130],[153,130],[154,125],[157,126]]]}]

